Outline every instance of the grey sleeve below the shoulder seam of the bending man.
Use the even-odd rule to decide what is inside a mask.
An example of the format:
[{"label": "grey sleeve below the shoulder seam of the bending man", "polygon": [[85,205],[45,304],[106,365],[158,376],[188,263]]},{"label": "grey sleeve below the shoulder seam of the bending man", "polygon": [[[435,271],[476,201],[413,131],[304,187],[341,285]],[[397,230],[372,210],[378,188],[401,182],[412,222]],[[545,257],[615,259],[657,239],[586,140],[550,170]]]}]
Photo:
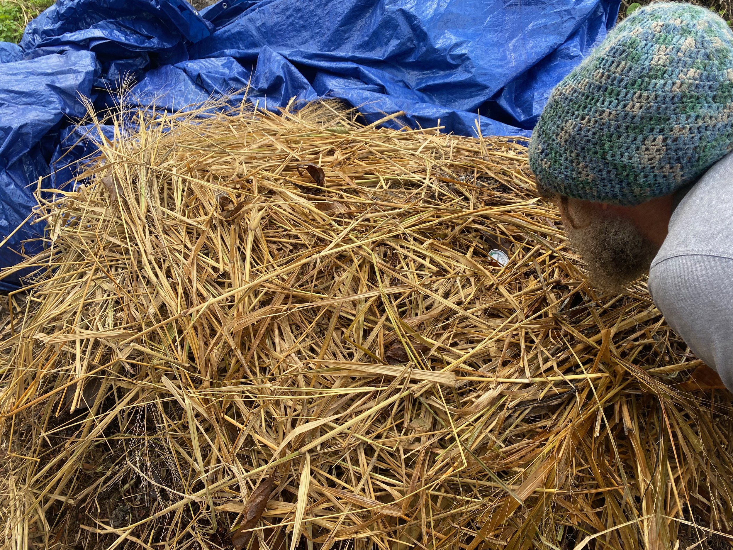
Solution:
[{"label": "grey sleeve below the shoulder seam of the bending man", "polygon": [[649,291],[669,326],[733,391],[733,260],[667,258],[649,271]]}]

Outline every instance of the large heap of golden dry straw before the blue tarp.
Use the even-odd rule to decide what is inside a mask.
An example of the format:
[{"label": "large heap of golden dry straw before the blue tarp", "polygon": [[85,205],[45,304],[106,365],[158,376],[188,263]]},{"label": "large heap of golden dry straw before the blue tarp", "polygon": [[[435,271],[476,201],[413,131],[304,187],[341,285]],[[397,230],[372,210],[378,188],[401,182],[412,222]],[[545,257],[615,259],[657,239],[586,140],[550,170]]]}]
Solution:
[{"label": "large heap of golden dry straw before the blue tarp", "polygon": [[212,113],[115,115],[84,186],[40,198],[48,247],[1,328],[6,547],[733,528],[729,403],[674,389],[700,362],[643,282],[586,285],[521,144]]}]

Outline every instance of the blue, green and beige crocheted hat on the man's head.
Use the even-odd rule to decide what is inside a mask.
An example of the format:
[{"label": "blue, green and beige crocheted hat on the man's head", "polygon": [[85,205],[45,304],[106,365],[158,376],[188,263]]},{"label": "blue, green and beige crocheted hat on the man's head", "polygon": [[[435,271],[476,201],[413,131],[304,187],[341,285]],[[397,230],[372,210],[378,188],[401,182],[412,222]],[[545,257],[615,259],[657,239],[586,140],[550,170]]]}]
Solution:
[{"label": "blue, green and beige crocheted hat on the man's head", "polygon": [[733,149],[733,33],[692,4],[633,12],[553,90],[529,145],[537,182],[638,205]]}]

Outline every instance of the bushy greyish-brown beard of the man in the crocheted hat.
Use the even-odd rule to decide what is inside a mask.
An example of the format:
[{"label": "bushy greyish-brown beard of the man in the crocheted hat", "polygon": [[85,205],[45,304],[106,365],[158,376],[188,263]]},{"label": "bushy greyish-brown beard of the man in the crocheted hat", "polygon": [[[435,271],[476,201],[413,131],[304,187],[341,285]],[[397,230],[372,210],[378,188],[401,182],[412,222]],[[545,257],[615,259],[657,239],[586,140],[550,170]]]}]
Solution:
[{"label": "bushy greyish-brown beard of the man in the crocheted hat", "polygon": [[588,264],[590,283],[599,290],[624,290],[649,272],[659,251],[629,219],[620,216],[599,216],[586,227],[565,231],[570,246]]}]

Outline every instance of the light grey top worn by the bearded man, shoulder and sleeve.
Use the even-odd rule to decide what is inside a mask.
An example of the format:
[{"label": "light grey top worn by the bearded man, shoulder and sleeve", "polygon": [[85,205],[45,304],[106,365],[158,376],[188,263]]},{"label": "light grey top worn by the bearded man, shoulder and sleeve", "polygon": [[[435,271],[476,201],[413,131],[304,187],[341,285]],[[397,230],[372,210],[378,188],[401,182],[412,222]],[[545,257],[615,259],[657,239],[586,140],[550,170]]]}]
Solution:
[{"label": "light grey top worn by the bearded man, shoulder and sleeve", "polygon": [[669,325],[733,391],[733,153],[674,209],[649,291]]}]

